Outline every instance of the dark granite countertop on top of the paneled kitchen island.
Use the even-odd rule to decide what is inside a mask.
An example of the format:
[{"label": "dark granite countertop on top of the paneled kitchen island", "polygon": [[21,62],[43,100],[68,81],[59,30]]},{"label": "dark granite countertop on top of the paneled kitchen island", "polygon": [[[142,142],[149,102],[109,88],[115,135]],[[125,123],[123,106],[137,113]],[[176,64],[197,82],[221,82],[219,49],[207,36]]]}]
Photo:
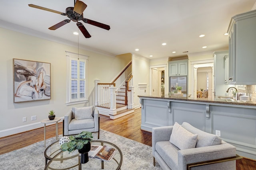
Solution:
[{"label": "dark granite countertop on top of the paneled kitchen island", "polygon": [[[168,99],[168,100],[183,100],[183,101],[192,101],[192,102],[207,102],[207,103],[218,103],[218,104],[234,104],[234,105],[244,105],[244,106],[256,106],[256,101],[243,101],[243,100],[232,100],[232,99],[219,99],[218,96],[216,98],[191,98],[191,97],[180,97],[180,96],[168,96],[167,94],[164,96],[152,96],[152,95],[144,95],[139,98],[156,98],[156,99]],[[226,96],[228,97],[228,96]]]}]

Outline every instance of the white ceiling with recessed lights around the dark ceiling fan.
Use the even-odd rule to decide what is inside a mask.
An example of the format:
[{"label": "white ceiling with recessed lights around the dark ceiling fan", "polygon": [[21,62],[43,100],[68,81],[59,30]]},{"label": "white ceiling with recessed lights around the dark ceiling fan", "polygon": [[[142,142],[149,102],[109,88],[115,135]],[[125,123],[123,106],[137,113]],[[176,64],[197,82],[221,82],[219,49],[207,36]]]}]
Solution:
[{"label": "white ceiling with recessed lights around the dark ceiling fan", "polygon": [[[79,47],[108,55],[136,53],[148,59],[177,57],[228,49],[230,19],[255,8],[256,0],[82,0],[84,18],[110,25],[110,30],[82,23],[92,35],[79,30]],[[74,0],[0,0],[0,27],[77,46],[76,23],[50,30],[68,19],[31,8],[34,4],[65,12]],[[15,24],[15,25],[14,25]],[[205,37],[200,38],[199,35]],[[162,45],[166,43],[166,45]],[[202,48],[207,46],[207,48]],[[139,49],[139,51],[135,51]],[[172,53],[176,51],[176,53]],[[188,53],[183,53],[188,51]],[[153,57],[149,57],[152,55]]]}]

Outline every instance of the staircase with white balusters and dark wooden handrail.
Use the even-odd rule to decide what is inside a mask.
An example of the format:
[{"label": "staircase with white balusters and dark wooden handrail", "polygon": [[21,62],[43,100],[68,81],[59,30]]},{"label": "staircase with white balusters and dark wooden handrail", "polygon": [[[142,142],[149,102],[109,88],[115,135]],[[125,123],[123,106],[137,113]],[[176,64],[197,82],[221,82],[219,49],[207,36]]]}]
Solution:
[{"label": "staircase with white balusters and dark wooden handrail", "polygon": [[133,113],[134,86],[132,86],[131,63],[112,83],[100,83],[100,80],[95,80],[95,90],[95,106],[101,115],[117,119]]}]

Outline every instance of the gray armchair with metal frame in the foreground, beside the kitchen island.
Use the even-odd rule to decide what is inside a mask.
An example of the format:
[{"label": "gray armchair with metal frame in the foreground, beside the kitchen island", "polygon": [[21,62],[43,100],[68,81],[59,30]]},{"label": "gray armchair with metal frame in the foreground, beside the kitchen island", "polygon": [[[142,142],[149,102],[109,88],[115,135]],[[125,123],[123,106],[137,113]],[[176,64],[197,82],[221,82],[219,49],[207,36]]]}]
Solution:
[{"label": "gray armchair with metal frame in the foreground, beside the kitchen island", "polygon": [[[189,123],[182,123],[184,129],[192,134],[197,134],[194,148],[182,149],[170,143],[170,136],[174,126],[152,128],[152,152],[164,170],[186,170],[194,166],[196,162],[204,162],[206,165],[195,166],[192,170],[235,170],[236,147],[222,141],[216,135],[196,129]],[[213,160],[222,159],[225,162],[211,164]]]}]

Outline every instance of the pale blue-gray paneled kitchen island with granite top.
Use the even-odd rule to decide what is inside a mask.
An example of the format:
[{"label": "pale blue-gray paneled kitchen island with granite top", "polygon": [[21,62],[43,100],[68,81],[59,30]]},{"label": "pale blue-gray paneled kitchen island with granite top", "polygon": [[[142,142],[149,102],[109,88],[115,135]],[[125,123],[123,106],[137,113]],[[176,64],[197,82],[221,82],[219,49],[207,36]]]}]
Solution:
[{"label": "pale blue-gray paneled kitchen island with granite top", "polygon": [[178,96],[138,96],[141,129],[182,124],[216,134],[234,145],[241,156],[256,160],[256,102]]}]

